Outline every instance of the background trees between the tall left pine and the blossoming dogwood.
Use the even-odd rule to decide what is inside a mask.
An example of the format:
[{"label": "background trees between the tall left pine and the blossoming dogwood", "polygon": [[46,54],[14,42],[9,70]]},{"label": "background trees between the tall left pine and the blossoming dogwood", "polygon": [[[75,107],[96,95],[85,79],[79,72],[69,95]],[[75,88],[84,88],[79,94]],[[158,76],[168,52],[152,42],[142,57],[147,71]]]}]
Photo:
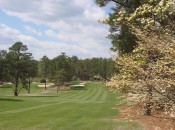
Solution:
[{"label": "background trees between the tall left pine and the blossoming dogwood", "polygon": [[93,80],[94,76],[107,80],[116,72],[112,59],[78,59],[77,56],[68,57],[65,53],[52,60],[46,59],[47,62],[44,62],[43,58],[39,61],[39,77],[44,78],[45,73],[46,79],[57,84],[65,84],[71,80]]}]

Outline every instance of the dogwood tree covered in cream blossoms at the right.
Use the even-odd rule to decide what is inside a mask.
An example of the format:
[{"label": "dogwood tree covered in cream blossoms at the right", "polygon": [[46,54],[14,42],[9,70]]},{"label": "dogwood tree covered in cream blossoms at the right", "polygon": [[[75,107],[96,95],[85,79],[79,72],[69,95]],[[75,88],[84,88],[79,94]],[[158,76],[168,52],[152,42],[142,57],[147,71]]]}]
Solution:
[{"label": "dogwood tree covered in cream blossoms at the right", "polygon": [[139,40],[132,53],[117,58],[120,73],[108,86],[127,90],[128,100],[142,105],[147,115],[160,108],[171,116],[175,112],[174,6],[173,0],[149,0],[133,13],[120,11],[113,19],[130,26]]}]

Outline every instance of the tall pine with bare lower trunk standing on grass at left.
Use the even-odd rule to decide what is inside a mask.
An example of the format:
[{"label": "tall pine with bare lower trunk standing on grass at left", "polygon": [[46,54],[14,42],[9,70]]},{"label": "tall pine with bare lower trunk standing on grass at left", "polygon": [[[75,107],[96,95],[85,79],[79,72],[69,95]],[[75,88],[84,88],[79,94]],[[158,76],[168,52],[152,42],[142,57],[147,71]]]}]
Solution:
[{"label": "tall pine with bare lower trunk standing on grass at left", "polygon": [[14,96],[18,96],[20,89],[20,79],[24,80],[28,73],[28,62],[31,60],[31,53],[27,53],[26,45],[22,42],[16,42],[9,48],[7,60],[10,64],[10,73],[15,81]]}]

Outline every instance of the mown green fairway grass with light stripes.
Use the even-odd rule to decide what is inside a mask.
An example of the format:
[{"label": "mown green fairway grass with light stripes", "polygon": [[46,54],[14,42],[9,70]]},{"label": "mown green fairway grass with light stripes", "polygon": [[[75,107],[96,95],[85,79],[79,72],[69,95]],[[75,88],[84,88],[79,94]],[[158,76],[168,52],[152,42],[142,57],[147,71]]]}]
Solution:
[{"label": "mown green fairway grass with light stripes", "polygon": [[[11,95],[10,95],[11,91]],[[134,122],[116,120],[122,99],[103,83],[87,83],[85,89],[59,91],[32,87],[35,95],[13,97],[9,86],[0,87],[2,130],[138,130]],[[8,96],[6,96],[8,95]]]}]

